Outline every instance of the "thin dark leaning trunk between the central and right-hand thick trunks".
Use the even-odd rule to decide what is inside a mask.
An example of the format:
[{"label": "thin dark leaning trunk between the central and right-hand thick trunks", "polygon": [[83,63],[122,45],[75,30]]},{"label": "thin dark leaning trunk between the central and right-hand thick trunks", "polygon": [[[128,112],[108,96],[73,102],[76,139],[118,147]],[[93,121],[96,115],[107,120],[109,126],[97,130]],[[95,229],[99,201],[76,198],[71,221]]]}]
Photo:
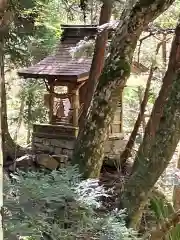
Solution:
[{"label": "thin dark leaning trunk between the central and right-hand thick trunks", "polygon": [[[156,56],[159,52],[160,46],[161,46],[161,43],[157,45]],[[153,73],[154,73],[154,67],[155,66],[154,66],[154,61],[153,61],[152,64],[151,64],[150,71],[149,71],[149,76],[148,76],[148,79],[147,79],[146,89],[145,89],[145,92],[144,92],[143,101],[141,103],[140,112],[139,112],[137,120],[134,124],[134,129],[131,133],[131,136],[129,137],[129,140],[126,144],[126,147],[125,147],[124,151],[122,152],[122,154],[120,156],[120,161],[121,161],[122,166],[124,166],[126,160],[129,157],[131,157],[131,153],[132,153],[132,149],[133,149],[133,146],[134,146],[134,143],[135,143],[135,140],[136,140],[136,136],[137,136],[138,130],[141,126],[142,120],[144,118],[144,113],[145,113],[146,106],[147,106],[147,103],[148,103],[149,90],[150,90],[151,81],[152,81]]]}]

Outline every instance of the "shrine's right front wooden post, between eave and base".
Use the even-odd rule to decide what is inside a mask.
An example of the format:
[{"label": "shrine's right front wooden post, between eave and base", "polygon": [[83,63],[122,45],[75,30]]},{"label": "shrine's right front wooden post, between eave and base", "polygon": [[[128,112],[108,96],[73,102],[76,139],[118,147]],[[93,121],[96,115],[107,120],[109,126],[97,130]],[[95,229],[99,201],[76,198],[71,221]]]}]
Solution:
[{"label": "shrine's right front wooden post, between eave and base", "polygon": [[79,126],[79,91],[72,91],[73,126]]}]

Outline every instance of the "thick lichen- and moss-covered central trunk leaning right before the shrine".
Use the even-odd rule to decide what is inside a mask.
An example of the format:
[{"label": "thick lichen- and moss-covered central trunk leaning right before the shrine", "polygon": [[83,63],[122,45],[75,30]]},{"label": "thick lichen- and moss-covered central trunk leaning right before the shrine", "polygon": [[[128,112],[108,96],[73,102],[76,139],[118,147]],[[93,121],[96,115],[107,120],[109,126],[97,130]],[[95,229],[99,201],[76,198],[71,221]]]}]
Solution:
[{"label": "thick lichen- and moss-covered central trunk leaning right before the shrine", "polygon": [[149,22],[173,2],[140,0],[130,14],[120,21],[83,131],[75,146],[73,163],[79,164],[84,177],[96,178],[100,174],[108,129],[119,102],[119,93],[130,75],[132,57],[140,34]]}]

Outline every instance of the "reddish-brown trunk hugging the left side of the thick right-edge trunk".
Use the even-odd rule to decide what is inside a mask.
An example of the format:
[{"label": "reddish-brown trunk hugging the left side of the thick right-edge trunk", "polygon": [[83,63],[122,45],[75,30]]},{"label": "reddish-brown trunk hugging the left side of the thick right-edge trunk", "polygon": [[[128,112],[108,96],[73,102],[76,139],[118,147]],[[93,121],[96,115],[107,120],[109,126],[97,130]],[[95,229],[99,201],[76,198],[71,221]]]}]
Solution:
[{"label": "reddish-brown trunk hugging the left side of the thick right-edge trunk", "polygon": [[147,153],[150,149],[150,142],[159,127],[160,118],[162,116],[166,100],[171,91],[173,80],[176,78],[177,69],[179,68],[179,62],[180,62],[180,29],[179,27],[177,27],[176,36],[174,37],[174,40],[172,42],[168,69],[163,78],[163,85],[159,92],[159,96],[156,99],[155,104],[153,106],[151,117],[146,125],[143,142],[141,143],[138,149],[135,162],[133,165],[133,172],[135,172],[136,167],[139,166],[139,159],[141,159],[144,153]]}]

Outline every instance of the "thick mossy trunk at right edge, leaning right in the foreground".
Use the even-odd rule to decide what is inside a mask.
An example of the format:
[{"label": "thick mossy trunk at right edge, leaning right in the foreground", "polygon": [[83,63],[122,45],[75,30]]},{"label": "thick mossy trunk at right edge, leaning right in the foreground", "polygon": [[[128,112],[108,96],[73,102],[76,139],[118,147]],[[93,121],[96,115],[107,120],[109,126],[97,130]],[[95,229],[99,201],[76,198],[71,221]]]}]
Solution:
[{"label": "thick mossy trunk at right edge, leaning right in the foreground", "polygon": [[[180,23],[176,28],[176,37],[172,49],[179,45]],[[170,95],[164,104],[164,111],[159,121],[159,128],[156,129],[154,137],[149,142],[148,151],[139,156],[136,169],[133,170],[128,182],[125,184],[120,201],[120,208],[126,208],[130,226],[136,225],[147,203],[148,194],[157,182],[160,175],[168,166],[176,146],[180,139],[180,73],[177,58],[180,48],[177,48],[174,56],[171,54],[170,62],[174,61],[174,74]]]}]

